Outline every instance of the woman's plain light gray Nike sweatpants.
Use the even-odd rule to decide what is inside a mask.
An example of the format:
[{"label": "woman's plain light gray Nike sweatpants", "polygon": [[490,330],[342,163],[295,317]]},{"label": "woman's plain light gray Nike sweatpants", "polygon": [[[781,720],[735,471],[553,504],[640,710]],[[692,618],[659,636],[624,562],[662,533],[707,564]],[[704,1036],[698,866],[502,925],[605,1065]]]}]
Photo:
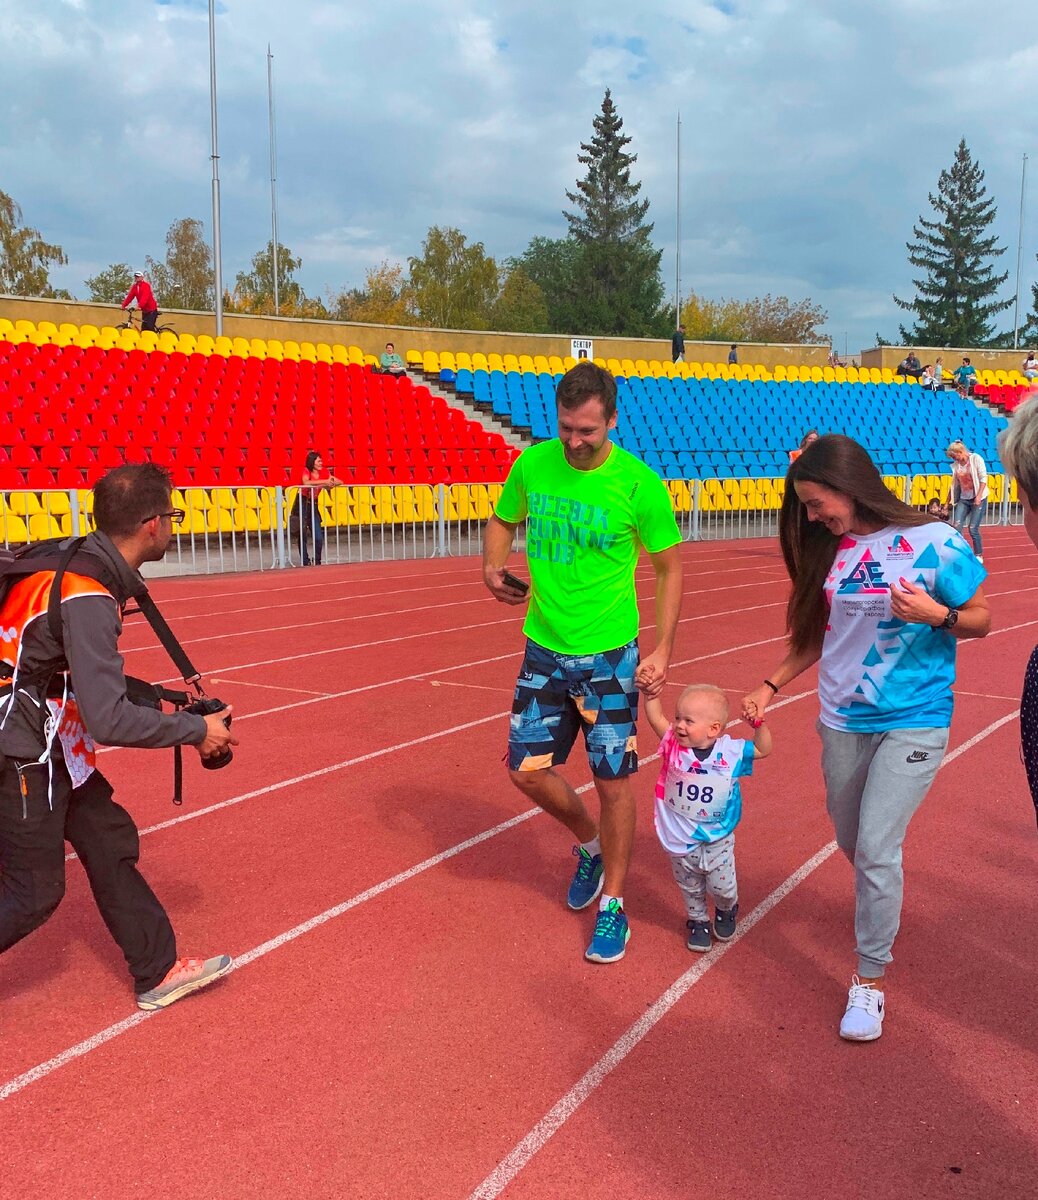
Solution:
[{"label": "woman's plain light gray Nike sweatpants", "polygon": [[826,806],[854,868],[858,974],[878,979],[901,922],[905,830],[934,782],[948,730],[845,733],[820,721],[818,733]]}]

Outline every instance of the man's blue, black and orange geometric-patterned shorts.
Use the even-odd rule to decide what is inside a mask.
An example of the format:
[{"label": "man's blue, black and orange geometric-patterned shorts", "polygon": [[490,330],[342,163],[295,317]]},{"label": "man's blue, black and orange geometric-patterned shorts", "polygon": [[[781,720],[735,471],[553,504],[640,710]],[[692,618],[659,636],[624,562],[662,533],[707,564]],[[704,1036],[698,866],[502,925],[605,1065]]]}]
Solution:
[{"label": "man's blue, black and orange geometric-patterned shorts", "polygon": [[542,770],[564,763],[583,730],[592,774],[634,774],[637,665],[637,641],[602,654],[556,654],[528,641],[512,700],[509,768]]}]

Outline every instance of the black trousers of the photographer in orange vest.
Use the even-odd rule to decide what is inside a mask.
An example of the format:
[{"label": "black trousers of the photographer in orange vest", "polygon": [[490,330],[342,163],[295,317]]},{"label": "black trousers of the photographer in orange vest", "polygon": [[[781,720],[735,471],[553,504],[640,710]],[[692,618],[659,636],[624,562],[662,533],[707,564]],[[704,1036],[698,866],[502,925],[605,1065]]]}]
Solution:
[{"label": "black trousers of the photographer in orange vest", "polygon": [[65,895],[65,841],[79,856],[104,924],[126,956],[134,990],[150,991],[176,960],[166,910],[137,870],[140,840],[100,773],[73,790],[60,756],[32,766],[23,792],[16,766],[0,772],[0,953],[38,929]]}]

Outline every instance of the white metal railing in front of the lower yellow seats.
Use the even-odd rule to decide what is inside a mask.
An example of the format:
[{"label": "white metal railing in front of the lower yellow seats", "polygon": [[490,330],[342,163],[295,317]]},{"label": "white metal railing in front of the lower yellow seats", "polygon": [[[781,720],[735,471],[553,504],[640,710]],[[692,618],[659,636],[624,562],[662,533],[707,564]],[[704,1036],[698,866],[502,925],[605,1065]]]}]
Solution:
[{"label": "white metal railing in front of the lower yellow seats", "polygon": [[[943,496],[947,482],[947,476],[887,479],[914,508]],[[668,480],[666,486],[685,541],[778,535],[785,479]],[[989,487],[984,526],[1022,524],[1015,485],[990,475]],[[149,564],[146,574],[280,570],[305,558],[362,563],[478,554],[500,490],[500,484],[349,486],[304,496],[302,504],[295,487],[176,490],[173,504],[185,510],[185,520],[174,527],[163,562]],[[0,544],[8,550],[92,528],[88,491],[0,492]]]}]

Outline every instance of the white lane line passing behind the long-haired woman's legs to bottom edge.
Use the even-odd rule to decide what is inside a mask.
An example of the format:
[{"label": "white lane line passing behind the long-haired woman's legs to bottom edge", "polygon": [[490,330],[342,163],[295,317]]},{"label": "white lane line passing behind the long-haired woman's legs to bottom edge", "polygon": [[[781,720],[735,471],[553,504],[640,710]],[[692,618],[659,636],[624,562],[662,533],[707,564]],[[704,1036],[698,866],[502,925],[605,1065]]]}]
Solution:
[{"label": "white lane line passing behind the long-haired woman's legs to bottom edge", "polygon": [[[982,730],[976,737],[970,738],[968,742],[964,742],[962,745],[956,746],[950,754],[944,756],[941,768],[947,767],[949,763],[954,762],[960,755],[964,755],[967,750],[972,749],[989,734],[1000,730],[1008,721],[1015,720],[1019,716],[1019,710],[1010,713],[1008,716],[1003,716],[1001,720],[995,721],[989,725],[985,730]],[[505,1158],[494,1168],[493,1171],[480,1183],[480,1186],[472,1193],[469,1200],[494,1200],[499,1196],[502,1192],[515,1180],[515,1177],[522,1171],[522,1169],[529,1163],[529,1160],[540,1151],[547,1141],[558,1133],[559,1129],[569,1121],[569,1118],[576,1112],[576,1110],[587,1100],[595,1088],[605,1080],[605,1078],[630,1055],[630,1052],[637,1046],[637,1044],[643,1040],[659,1022],[667,1015],[667,1013],[678,1003],[678,1001],[694,988],[700,979],[712,968],[718,965],[718,962],[724,959],[724,956],[734,947],[742,938],[762,920],[767,914],[784,900],[794,888],[804,882],[808,876],[817,870],[829,858],[836,850],[835,841],[828,842],[823,846],[816,854],[808,859],[802,866],[799,866],[792,875],[790,875],[779,887],[775,888],[769,895],[767,895],[754,911],[746,917],[745,922],[739,918],[739,926],[736,930],[736,936],[730,942],[722,942],[720,946],[715,946],[709,955],[704,959],[689,967],[689,970],[680,976],[671,986],[660,996],[660,998],[649,1008],[643,1016],[638,1018],[630,1028],[613,1043],[613,1045],[602,1055],[601,1058],[587,1072],[570,1090],[566,1094],[548,1111],[544,1117],[530,1129],[526,1138],[520,1141]]]}]

